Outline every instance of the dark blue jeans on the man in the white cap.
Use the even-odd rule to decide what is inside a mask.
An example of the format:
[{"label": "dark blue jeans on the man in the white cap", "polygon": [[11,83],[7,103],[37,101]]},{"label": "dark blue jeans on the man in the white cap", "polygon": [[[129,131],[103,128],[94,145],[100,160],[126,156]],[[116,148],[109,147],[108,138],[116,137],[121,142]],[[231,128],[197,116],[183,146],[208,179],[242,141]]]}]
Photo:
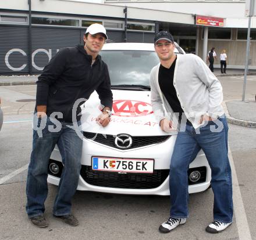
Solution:
[{"label": "dark blue jeans on the man in the white cap", "polygon": [[[48,161],[54,150],[55,144],[59,147],[64,168],[59,182],[58,194],[54,202],[53,213],[62,216],[70,213],[71,200],[76,192],[81,169],[81,150],[83,140],[74,129],[67,125],[70,122],[61,122],[58,132],[50,132],[48,127],[56,126],[47,117],[45,128],[41,137],[33,130],[33,150],[31,152],[30,165],[27,174],[27,205],[28,216],[41,215],[45,211],[44,202],[48,194]],[[43,120],[38,119],[38,126]],[[77,122],[80,125],[80,122]],[[35,128],[34,128],[35,129]]]}]

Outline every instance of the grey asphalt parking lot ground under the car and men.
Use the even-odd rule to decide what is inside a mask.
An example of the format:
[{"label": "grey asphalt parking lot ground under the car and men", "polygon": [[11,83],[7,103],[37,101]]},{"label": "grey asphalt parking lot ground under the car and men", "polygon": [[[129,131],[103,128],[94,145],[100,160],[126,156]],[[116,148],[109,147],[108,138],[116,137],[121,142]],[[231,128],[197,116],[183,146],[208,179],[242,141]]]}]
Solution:
[{"label": "grey asphalt parking lot ground under the car and men", "polygon": [[[241,99],[243,77],[222,77],[224,100]],[[256,76],[247,80],[247,98],[256,93]],[[4,123],[0,132],[0,239],[256,239],[256,129],[229,125],[233,170],[234,223],[221,234],[208,234],[212,221],[212,190],[190,195],[190,217],[184,226],[160,234],[168,218],[169,197],[101,194],[77,191],[73,213],[77,227],[51,215],[56,186],[45,202],[50,226],[40,229],[27,219],[26,174],[29,163],[35,85],[0,87]]]}]

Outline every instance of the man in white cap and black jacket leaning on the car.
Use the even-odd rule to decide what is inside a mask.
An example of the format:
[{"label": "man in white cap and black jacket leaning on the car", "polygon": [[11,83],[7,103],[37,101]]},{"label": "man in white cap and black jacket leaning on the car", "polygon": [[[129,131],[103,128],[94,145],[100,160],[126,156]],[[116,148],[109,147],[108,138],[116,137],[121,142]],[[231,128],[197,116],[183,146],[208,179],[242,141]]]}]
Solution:
[{"label": "man in white cap and black jacket leaning on the car", "polygon": [[[48,226],[44,217],[44,202],[48,194],[48,161],[55,144],[62,156],[63,170],[53,214],[70,226],[79,224],[71,213],[71,200],[80,176],[83,143],[75,127],[81,125],[79,106],[94,90],[102,106],[105,106],[98,117],[98,123],[102,126],[109,123],[112,108],[111,82],[108,67],[98,55],[106,39],[105,28],[100,24],[92,24],[84,35],[84,46],[60,50],[38,77],[33,150],[26,191],[27,214],[37,227]],[[77,100],[80,104],[76,108]],[[38,131],[38,127],[43,125],[41,132]]]}]

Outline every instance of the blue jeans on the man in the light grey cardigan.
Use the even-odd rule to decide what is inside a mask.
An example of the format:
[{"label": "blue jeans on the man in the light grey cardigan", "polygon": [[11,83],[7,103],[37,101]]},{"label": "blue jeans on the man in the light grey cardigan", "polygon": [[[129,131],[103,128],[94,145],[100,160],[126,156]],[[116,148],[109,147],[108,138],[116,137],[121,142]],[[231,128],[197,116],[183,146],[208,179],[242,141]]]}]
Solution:
[{"label": "blue jeans on the man in the light grey cardigan", "polygon": [[[220,122],[218,122],[220,121]],[[222,125],[221,132],[212,131]],[[184,132],[177,134],[175,148],[170,162],[170,217],[188,217],[189,164],[198,151],[204,151],[212,171],[211,186],[214,192],[214,220],[230,223],[233,219],[232,176],[227,150],[227,122],[223,115],[216,121],[209,121],[198,129],[186,125]]]}]

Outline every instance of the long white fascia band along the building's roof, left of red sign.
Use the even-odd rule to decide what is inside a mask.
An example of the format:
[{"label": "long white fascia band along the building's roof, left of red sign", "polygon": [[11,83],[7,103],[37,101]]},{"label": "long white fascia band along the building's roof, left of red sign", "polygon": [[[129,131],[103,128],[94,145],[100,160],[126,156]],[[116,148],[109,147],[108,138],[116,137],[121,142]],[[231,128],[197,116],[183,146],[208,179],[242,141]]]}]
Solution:
[{"label": "long white fascia band along the building's roof, left of red sign", "polygon": [[[0,0],[1,9],[29,10],[27,0]],[[17,4],[17,2],[19,4]],[[80,14],[95,17],[117,17],[124,18],[123,9],[125,6],[105,5],[101,3],[76,2],[68,0],[32,0],[32,11],[45,13]],[[173,23],[194,24],[193,14],[175,13],[165,10],[129,8],[128,19],[168,21]]]}]

